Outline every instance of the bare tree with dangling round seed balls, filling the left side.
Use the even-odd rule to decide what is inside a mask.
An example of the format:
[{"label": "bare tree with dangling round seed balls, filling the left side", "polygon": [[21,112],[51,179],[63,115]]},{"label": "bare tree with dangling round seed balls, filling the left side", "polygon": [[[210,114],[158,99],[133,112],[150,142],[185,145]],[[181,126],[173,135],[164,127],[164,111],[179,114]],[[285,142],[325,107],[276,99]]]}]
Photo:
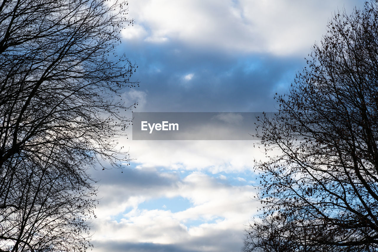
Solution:
[{"label": "bare tree with dangling round seed balls, filling the left side", "polygon": [[127,3],[0,3],[0,249],[85,250],[95,201],[87,169],[128,160],[122,92],[135,66],[117,55]]}]

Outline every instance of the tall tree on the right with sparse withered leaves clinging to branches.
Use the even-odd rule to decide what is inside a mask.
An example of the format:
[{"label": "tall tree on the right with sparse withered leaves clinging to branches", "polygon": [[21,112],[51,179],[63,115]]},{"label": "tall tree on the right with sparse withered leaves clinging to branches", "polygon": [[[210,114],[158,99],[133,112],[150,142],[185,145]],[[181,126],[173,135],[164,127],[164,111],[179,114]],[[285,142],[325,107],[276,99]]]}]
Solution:
[{"label": "tall tree on the right with sparse withered leaves clinging to branches", "polygon": [[[336,13],[279,113],[260,118],[262,218],[294,216],[307,244],[378,251],[378,6]],[[301,241],[303,243],[304,241]]]}]

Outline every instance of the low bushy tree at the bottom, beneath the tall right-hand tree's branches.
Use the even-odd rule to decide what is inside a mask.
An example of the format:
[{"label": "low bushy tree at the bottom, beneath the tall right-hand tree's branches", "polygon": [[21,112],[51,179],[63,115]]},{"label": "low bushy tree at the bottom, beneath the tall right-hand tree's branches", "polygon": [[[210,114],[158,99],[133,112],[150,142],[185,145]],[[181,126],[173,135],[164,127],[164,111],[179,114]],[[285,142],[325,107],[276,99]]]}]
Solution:
[{"label": "low bushy tree at the bottom, beneath the tall right-hand tree's branches", "polygon": [[[326,225],[312,223],[303,210],[276,213],[253,219],[246,228],[242,252],[369,252],[364,248],[342,250],[333,244],[338,239]],[[295,213],[295,215],[293,214]],[[315,224],[315,225],[314,225]],[[316,228],[314,228],[314,226]],[[339,233],[337,234],[339,235]],[[322,244],[309,241],[322,240]]]}]

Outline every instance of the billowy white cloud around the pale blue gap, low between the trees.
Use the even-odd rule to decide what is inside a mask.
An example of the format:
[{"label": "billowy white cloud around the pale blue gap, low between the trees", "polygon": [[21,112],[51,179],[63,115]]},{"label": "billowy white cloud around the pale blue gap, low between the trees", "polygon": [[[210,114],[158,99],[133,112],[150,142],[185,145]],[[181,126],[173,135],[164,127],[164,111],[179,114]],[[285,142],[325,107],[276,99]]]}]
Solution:
[{"label": "billowy white cloud around the pale blue gap, low between the trees", "polygon": [[[202,173],[192,173],[182,180],[178,179],[176,185],[176,190],[155,187],[151,192],[166,197],[182,196],[192,202],[192,207],[171,212],[169,209],[139,209],[133,206],[118,221],[100,214],[93,222],[96,228],[94,243],[112,241],[175,244],[182,248],[214,252],[228,252],[231,245],[241,246],[243,225],[248,224],[249,218],[257,209],[257,203],[250,198],[254,195],[251,186],[223,184]],[[122,185],[116,187],[122,190]],[[127,188],[123,190],[127,193]],[[139,195],[148,197],[151,192],[140,192]],[[114,190],[107,190],[102,196],[109,197],[113,193]],[[144,193],[147,195],[143,195]],[[123,201],[122,197],[114,198],[113,202],[108,202],[107,208],[115,210],[116,204],[125,207],[130,198],[124,198]],[[99,211],[101,210],[96,210]],[[193,220],[201,220],[203,223],[191,226]],[[222,236],[234,236],[231,245],[227,239],[215,242]],[[106,249],[100,247],[95,251]]]}]

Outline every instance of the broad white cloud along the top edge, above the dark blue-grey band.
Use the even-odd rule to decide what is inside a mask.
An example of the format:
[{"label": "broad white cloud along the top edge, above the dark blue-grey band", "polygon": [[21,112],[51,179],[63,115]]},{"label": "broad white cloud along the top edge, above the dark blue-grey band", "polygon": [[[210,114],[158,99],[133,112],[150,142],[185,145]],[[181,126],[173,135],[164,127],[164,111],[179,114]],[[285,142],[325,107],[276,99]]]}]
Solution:
[{"label": "broad white cloud along the top edge, above the dark blue-grey band", "polygon": [[[129,14],[139,26],[125,29],[124,37],[130,32],[153,43],[178,40],[231,53],[307,54],[335,10],[345,6],[350,12],[362,2],[130,0]],[[144,32],[139,31],[142,26]]]}]

